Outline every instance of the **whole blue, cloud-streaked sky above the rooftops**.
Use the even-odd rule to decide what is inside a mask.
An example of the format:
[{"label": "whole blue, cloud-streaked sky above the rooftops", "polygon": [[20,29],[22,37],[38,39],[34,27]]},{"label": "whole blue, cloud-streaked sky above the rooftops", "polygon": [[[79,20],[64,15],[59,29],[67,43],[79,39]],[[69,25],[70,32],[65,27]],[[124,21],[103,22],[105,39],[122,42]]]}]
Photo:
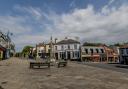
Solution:
[{"label": "whole blue, cloud-streaked sky above the rooftops", "polygon": [[128,42],[128,0],[0,0],[0,30],[16,50],[50,37],[82,42]]}]

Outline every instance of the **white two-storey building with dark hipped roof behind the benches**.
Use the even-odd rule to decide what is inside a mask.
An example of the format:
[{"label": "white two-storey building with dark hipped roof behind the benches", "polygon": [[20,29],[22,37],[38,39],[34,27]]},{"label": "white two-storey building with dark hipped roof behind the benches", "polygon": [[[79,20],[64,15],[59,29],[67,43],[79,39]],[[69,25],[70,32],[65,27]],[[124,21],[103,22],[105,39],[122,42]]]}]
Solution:
[{"label": "white two-storey building with dark hipped roof behind the benches", "polygon": [[65,38],[54,45],[56,59],[80,59],[80,42]]}]

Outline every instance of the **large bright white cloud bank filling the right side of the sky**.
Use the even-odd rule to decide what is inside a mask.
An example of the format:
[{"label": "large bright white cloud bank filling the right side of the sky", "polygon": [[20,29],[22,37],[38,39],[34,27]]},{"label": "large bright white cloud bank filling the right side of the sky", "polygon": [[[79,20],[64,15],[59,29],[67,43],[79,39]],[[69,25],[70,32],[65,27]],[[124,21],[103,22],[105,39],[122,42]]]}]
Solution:
[{"label": "large bright white cloud bank filling the right side of the sky", "polygon": [[[114,8],[114,7],[113,7]],[[122,5],[118,9],[103,14],[96,12],[93,6],[85,9],[76,9],[71,13],[63,14],[54,20],[55,32],[80,36],[83,40],[95,42],[119,42],[128,38],[128,6]]]}]

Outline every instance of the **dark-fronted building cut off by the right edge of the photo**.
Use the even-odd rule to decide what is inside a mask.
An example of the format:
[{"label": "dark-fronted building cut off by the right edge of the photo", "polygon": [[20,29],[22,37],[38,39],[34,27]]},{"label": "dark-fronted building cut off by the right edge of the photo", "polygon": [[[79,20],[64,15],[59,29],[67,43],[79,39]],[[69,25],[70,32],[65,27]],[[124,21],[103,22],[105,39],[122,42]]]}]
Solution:
[{"label": "dark-fronted building cut off by the right edge of the photo", "polygon": [[128,64],[128,45],[120,47],[120,63]]}]

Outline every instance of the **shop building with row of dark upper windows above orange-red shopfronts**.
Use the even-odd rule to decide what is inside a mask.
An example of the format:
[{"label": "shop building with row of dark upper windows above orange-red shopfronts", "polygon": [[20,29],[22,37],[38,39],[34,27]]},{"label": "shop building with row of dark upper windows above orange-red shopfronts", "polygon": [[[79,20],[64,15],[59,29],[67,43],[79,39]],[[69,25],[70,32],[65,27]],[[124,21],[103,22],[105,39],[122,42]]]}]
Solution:
[{"label": "shop building with row of dark upper windows above orange-red shopfronts", "polygon": [[104,47],[102,46],[82,46],[81,61],[101,62],[106,61]]}]

